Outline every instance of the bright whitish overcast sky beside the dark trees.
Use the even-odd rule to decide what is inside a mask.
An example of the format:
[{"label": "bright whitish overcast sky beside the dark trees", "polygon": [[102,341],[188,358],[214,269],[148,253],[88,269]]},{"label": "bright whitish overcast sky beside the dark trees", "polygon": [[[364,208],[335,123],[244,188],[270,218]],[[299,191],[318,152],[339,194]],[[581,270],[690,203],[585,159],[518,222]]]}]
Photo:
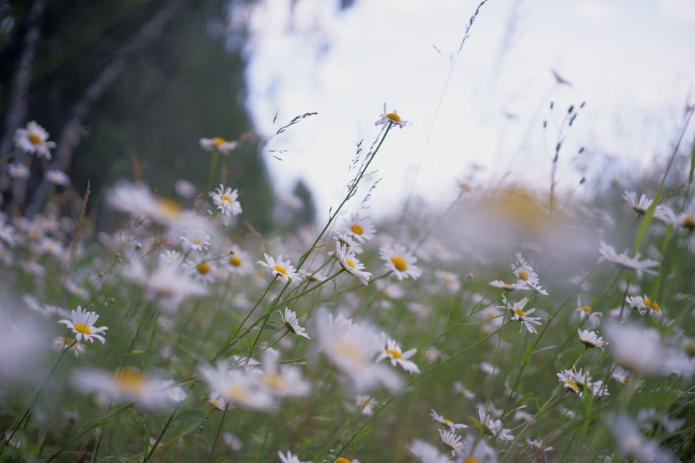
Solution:
[{"label": "bright whitish overcast sky beside the dark trees", "polygon": [[[259,2],[246,75],[256,129],[272,135],[318,112],[268,144],[282,150],[281,160],[263,154],[277,191],[302,178],[325,219],[357,142],[377,137],[384,103],[412,125],[391,131],[373,162],[375,216],[409,196],[448,203],[468,180],[548,190],[559,137],[567,190],[669,152],[695,99],[695,2],[489,0],[460,47],[478,3],[357,0],[339,11],[334,1]],[[568,128],[569,106],[582,102]]]}]

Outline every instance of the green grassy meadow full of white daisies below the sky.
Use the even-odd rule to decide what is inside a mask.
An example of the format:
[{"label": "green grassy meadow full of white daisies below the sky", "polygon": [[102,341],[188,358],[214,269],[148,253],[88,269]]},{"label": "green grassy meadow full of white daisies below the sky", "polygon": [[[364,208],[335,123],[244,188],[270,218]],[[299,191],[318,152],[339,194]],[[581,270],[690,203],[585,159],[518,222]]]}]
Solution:
[{"label": "green grassy meadow full of white daisies below the sky", "polygon": [[407,123],[377,125],[321,227],[260,235],[233,184],[5,217],[0,461],[691,461],[692,159],[641,201],[467,184],[376,221]]}]

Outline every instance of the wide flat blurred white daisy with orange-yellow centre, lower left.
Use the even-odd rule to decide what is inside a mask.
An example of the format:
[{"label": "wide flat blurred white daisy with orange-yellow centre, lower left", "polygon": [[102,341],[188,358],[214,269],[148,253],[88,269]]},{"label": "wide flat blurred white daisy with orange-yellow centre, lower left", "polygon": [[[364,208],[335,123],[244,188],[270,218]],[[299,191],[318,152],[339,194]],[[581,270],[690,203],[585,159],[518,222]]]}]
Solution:
[{"label": "wide flat blurred white daisy with orange-yellow centre, lower left", "polygon": [[136,369],[116,373],[98,369],[79,370],[72,375],[72,385],[85,394],[97,394],[108,402],[135,402],[148,409],[172,407],[171,383],[147,376]]}]

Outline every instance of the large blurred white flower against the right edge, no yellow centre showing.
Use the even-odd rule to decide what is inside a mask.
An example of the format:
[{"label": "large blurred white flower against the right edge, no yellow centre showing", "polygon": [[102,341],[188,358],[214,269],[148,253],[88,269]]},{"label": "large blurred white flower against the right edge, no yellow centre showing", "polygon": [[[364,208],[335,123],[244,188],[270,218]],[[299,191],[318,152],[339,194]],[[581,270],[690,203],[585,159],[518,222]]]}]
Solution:
[{"label": "large blurred white flower against the right edge, no yellow centre showing", "polygon": [[605,323],[605,337],[617,364],[630,371],[691,378],[695,359],[676,348],[664,347],[657,330],[636,323]]}]

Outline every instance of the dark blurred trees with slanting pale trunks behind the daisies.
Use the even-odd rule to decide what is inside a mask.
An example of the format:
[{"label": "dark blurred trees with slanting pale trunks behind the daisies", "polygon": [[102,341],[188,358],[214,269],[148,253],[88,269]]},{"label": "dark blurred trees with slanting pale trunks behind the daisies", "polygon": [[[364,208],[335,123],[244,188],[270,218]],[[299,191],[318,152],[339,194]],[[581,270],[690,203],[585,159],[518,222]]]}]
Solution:
[{"label": "dark blurred trees with slanting pale trunks behind the daisies", "polygon": [[[58,142],[51,168],[67,171],[80,195],[90,180],[95,205],[116,178],[140,177],[166,195],[178,178],[206,185],[211,155],[199,138],[240,138],[213,184],[238,188],[253,204],[244,218],[268,229],[272,189],[240,103],[245,62],[227,37],[209,33],[224,25],[224,1],[9,5],[0,19],[0,153],[12,149],[17,128],[38,121]],[[8,198],[29,215],[42,206],[47,166],[33,160],[31,168],[26,198],[3,185],[6,208]]]}]

